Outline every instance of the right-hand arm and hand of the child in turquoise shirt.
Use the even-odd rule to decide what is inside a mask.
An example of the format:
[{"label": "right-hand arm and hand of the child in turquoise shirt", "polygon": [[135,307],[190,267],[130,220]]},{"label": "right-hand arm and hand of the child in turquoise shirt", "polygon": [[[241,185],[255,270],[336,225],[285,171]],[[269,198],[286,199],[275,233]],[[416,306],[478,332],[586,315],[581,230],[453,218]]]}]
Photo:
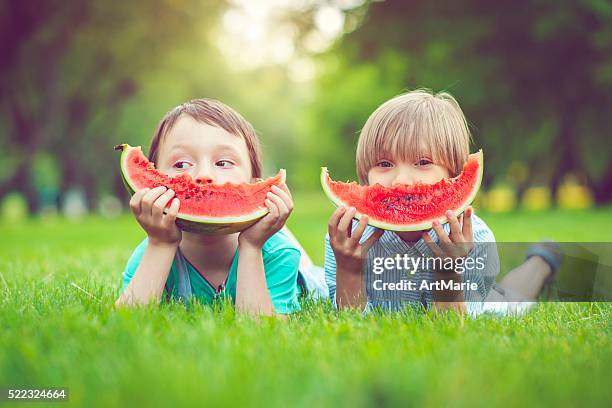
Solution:
[{"label": "right-hand arm and hand of the child in turquoise shirt", "polygon": [[276,313],[270,292],[261,249],[272,235],[281,230],[293,210],[293,200],[286,185],[272,187],[265,204],[270,212],[238,237],[238,271],[236,309],[253,315]]}]

